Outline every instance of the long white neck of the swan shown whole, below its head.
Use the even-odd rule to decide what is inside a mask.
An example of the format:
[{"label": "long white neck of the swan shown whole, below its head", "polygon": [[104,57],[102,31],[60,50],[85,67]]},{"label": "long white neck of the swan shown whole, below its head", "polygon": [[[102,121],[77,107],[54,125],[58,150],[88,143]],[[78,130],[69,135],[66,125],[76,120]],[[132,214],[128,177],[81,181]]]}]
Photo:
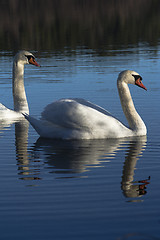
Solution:
[{"label": "long white neck of the swan shown whole, below its head", "polygon": [[127,83],[118,81],[117,86],[123,112],[127,118],[129,127],[136,135],[146,135],[146,126],[134,107]]}]

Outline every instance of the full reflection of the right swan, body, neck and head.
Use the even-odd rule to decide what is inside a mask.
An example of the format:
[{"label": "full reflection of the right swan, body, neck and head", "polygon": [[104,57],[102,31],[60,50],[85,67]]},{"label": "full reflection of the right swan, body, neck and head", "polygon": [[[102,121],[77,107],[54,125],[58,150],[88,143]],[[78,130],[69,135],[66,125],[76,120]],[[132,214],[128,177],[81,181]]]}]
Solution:
[{"label": "full reflection of the right swan, body, neck and head", "polygon": [[[129,144],[129,145],[128,145]],[[126,147],[127,145],[127,147]],[[146,194],[149,179],[134,181],[137,160],[141,157],[146,137],[119,140],[61,141],[39,138],[33,148],[35,159],[43,159],[50,173],[61,177],[84,177],[86,171],[103,167],[125,146],[126,157],[122,171],[121,189],[125,197]],[[78,173],[81,173],[78,175]],[[61,175],[60,175],[61,174]],[[57,175],[58,177],[58,175]]]}]

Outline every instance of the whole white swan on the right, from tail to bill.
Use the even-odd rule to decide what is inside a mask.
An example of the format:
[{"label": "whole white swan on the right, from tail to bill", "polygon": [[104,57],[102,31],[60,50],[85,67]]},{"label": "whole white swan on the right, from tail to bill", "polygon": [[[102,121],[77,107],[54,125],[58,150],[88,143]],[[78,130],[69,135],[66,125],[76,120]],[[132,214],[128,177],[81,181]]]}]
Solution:
[{"label": "whole white swan on the right, from tail to bill", "polygon": [[147,130],[134,107],[128,84],[145,88],[141,76],[130,70],[119,74],[117,87],[129,128],[103,108],[83,99],[61,99],[46,106],[41,120],[25,115],[41,137],[100,139],[146,135]]}]

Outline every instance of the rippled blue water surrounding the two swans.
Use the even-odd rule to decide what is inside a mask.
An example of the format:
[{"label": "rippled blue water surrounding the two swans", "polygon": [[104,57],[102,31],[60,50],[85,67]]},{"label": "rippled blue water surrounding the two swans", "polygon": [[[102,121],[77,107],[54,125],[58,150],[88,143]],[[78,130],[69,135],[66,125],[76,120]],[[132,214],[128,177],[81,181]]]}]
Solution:
[{"label": "rippled blue water surrounding the two swans", "polygon": [[[160,48],[140,45],[98,55],[42,52],[26,66],[30,113],[80,97],[126,123],[116,89],[133,69],[148,91],[130,86],[148,135],[135,139],[44,140],[26,121],[0,123],[1,239],[160,239]],[[12,54],[0,53],[0,102],[12,108]]]}]

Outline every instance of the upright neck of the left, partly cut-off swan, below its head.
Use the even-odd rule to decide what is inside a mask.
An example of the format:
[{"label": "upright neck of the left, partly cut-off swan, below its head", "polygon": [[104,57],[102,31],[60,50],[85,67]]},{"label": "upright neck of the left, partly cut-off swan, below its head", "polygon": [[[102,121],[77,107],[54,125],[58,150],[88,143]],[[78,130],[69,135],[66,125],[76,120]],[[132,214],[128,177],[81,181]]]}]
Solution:
[{"label": "upright neck of the left, partly cut-off swan, below its head", "polygon": [[23,76],[24,64],[14,61],[12,79],[14,110],[17,112],[29,113]]}]

